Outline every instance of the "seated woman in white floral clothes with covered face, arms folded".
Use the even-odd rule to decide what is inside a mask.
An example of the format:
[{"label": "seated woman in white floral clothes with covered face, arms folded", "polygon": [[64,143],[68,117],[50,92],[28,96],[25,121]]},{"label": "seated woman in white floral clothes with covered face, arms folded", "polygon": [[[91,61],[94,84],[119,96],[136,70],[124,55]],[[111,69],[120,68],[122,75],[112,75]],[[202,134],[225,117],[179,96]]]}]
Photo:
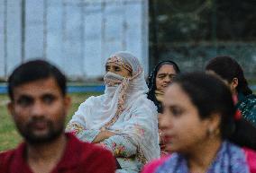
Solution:
[{"label": "seated woman in white floral clothes with covered face, arms folded", "polygon": [[157,108],[147,99],[142,65],[132,54],[117,52],[106,60],[104,81],[105,93],[83,102],[67,131],[112,151],[117,172],[139,172],[160,157]]}]

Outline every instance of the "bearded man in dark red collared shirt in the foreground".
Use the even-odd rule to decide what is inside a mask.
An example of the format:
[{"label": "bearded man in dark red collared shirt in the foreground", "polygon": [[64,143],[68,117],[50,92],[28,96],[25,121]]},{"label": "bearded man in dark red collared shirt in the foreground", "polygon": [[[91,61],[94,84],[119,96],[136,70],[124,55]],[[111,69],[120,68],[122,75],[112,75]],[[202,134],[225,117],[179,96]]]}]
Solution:
[{"label": "bearded man in dark red collared shirt in the foreground", "polygon": [[33,60],[18,66],[8,94],[8,110],[24,143],[0,154],[0,172],[114,173],[109,151],[64,133],[70,99],[66,78],[54,65]]}]

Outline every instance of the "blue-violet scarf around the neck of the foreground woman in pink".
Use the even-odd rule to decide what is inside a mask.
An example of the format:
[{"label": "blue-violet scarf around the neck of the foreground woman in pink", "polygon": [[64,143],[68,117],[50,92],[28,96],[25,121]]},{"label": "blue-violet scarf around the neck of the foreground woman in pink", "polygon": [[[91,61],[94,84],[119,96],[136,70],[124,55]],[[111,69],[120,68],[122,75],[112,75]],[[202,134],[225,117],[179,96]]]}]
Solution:
[{"label": "blue-violet scarf around the neck of the foreground woman in pink", "polygon": [[[189,173],[187,161],[181,154],[175,152],[160,165],[156,173]],[[206,173],[250,173],[250,171],[242,149],[232,143],[224,142]]]}]

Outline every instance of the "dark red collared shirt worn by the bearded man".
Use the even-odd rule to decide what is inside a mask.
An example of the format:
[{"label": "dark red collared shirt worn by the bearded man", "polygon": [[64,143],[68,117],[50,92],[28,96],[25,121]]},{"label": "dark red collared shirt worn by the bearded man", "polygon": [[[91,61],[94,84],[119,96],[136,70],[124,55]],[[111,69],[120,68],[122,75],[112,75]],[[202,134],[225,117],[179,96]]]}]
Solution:
[{"label": "dark red collared shirt worn by the bearded man", "polygon": [[[110,151],[91,143],[80,142],[73,134],[68,138],[65,152],[50,173],[114,173],[115,162]],[[0,173],[32,173],[22,143],[12,151],[0,153]]]}]

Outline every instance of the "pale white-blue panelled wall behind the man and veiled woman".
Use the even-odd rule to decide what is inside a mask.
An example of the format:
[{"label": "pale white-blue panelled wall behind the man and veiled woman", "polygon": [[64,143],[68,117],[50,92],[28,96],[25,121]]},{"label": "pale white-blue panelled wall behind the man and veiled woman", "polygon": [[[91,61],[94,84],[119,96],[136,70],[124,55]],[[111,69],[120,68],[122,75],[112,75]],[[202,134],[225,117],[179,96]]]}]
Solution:
[{"label": "pale white-blue panelled wall behind the man and veiled woman", "polygon": [[95,78],[119,50],[148,74],[148,16],[147,0],[1,0],[0,77],[42,57],[69,78]]}]

